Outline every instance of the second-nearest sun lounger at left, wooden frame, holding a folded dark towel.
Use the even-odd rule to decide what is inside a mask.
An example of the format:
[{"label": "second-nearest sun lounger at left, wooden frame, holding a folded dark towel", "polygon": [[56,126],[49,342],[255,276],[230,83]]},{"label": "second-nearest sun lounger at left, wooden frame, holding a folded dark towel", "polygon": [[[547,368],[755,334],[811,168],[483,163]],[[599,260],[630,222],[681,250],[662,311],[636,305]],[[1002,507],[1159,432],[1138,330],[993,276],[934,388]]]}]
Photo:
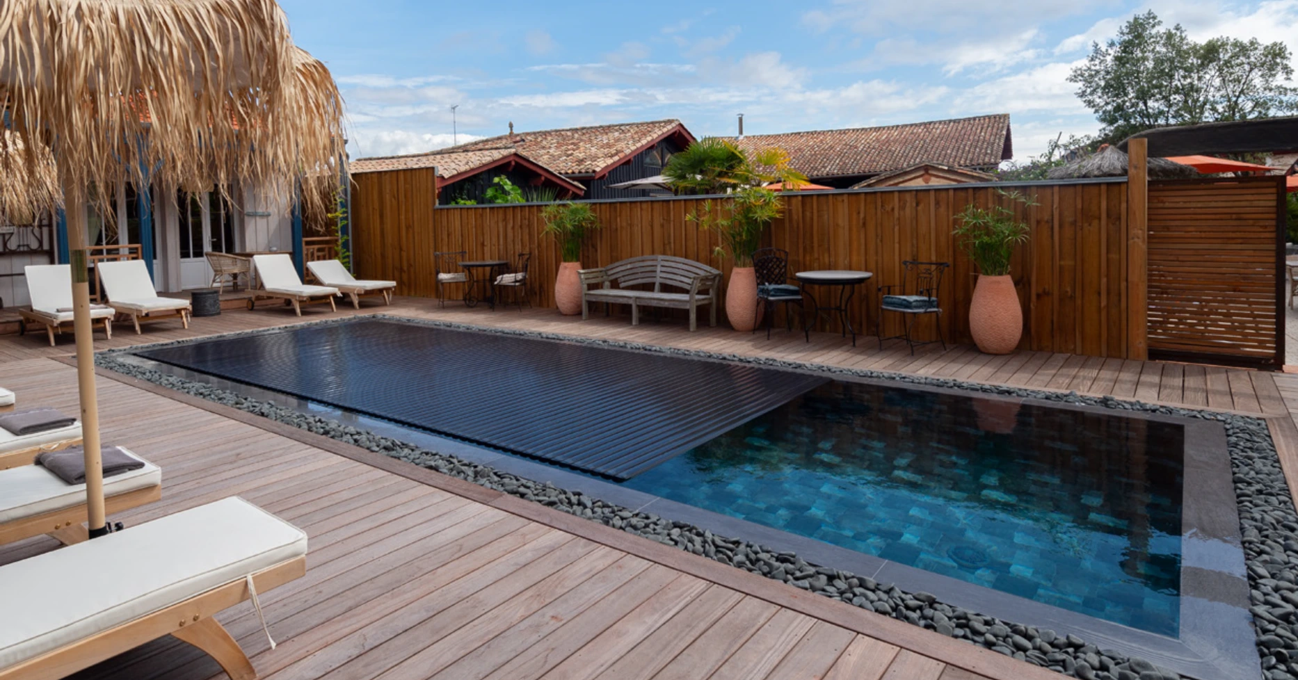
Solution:
[{"label": "second-nearest sun lounger at left, wooden frame, holding a folded dark towel", "polygon": [[[109,514],[162,497],[161,470],[122,452],[144,467],[104,478],[104,509]],[[42,533],[69,545],[80,542],[87,537],[84,520],[86,484],[69,484],[40,465],[0,470],[0,545]]]}]

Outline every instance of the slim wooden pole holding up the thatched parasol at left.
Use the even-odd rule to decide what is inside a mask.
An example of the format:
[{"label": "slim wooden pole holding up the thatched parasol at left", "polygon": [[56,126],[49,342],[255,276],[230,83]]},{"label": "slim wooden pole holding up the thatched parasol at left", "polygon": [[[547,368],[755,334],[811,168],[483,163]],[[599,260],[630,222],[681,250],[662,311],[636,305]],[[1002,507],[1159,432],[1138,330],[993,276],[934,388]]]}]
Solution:
[{"label": "slim wooden pole holding up the thatched parasol at left", "polygon": [[86,199],[64,180],[64,214],[73,270],[73,331],[77,336],[77,388],[80,393],[82,449],[86,453],[86,514],[90,537],[108,533],[104,513],[104,465],[99,450],[99,397],[95,393],[95,328],[90,318],[90,267],[86,249]]}]

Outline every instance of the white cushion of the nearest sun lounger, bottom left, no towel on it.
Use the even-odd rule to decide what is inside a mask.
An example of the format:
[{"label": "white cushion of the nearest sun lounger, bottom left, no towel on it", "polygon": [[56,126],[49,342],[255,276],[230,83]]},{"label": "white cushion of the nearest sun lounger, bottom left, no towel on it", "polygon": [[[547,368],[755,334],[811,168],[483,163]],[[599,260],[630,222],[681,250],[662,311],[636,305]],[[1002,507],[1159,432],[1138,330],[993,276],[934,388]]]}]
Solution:
[{"label": "white cushion of the nearest sun lounger, bottom left, no towel on it", "polygon": [[305,554],[301,529],[230,497],[5,565],[0,668]]}]

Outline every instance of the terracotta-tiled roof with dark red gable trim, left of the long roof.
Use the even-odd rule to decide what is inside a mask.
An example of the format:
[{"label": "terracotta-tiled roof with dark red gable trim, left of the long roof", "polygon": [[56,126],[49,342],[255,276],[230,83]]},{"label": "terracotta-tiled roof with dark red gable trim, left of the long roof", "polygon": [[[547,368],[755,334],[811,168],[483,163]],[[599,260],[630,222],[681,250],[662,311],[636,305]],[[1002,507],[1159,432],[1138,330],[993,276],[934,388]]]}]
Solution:
[{"label": "terracotta-tiled roof with dark red gable trim, left of the long roof", "polygon": [[536,132],[515,132],[479,139],[444,151],[469,152],[513,147],[533,161],[563,175],[596,174],[633,154],[649,143],[679,128],[693,135],[671,118],[640,123],[565,127]]}]

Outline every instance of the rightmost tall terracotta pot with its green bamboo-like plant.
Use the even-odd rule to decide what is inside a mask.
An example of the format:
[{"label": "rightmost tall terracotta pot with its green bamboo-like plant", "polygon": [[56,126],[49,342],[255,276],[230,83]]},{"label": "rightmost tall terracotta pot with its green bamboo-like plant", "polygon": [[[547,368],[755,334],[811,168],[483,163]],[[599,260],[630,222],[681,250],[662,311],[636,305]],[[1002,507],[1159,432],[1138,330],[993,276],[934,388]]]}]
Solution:
[{"label": "rightmost tall terracotta pot with its green bamboo-like plant", "polygon": [[[1011,202],[1036,205],[1019,192],[998,193]],[[1019,244],[1027,243],[1029,228],[1005,205],[979,208],[970,204],[958,219],[961,226],[953,234],[979,270],[970,302],[970,334],[980,350],[1009,354],[1023,337],[1023,308],[1010,276],[1010,258]]]}]

